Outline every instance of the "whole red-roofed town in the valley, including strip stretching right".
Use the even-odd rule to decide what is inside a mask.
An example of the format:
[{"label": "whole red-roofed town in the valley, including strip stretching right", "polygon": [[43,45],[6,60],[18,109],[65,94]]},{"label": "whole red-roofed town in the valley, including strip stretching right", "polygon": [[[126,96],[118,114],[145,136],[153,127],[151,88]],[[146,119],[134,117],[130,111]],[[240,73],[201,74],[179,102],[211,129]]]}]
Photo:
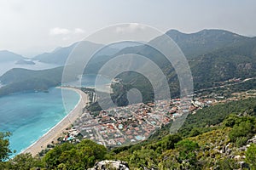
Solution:
[{"label": "whole red-roofed town in the valley, including strip stretching right", "polygon": [[[73,127],[67,129],[67,135],[63,140],[79,142],[76,137],[82,135],[83,139],[91,139],[108,147],[137,143],[148,139],[156,129],[175,121],[183,112],[195,114],[195,111],[201,108],[218,103],[256,97],[256,91],[234,93],[229,99],[220,97],[201,96],[185,104],[181,104],[181,99],[159,100],[155,104],[139,103],[109,108],[97,114],[84,111],[74,122]],[[182,105],[187,105],[187,109],[184,110]]]}]

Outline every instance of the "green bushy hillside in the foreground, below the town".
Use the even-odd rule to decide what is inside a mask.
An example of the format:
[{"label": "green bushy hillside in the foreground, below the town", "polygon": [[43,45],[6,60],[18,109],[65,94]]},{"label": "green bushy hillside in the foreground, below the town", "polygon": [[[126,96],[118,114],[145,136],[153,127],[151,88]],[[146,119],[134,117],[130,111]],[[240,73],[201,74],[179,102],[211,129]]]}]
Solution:
[{"label": "green bushy hillside in the foreground, below the town", "polygon": [[142,143],[113,150],[90,140],[65,143],[41,158],[21,154],[2,159],[1,167],[86,169],[96,161],[118,159],[131,169],[255,169],[255,115],[256,99],[233,101],[189,115],[179,133],[166,133],[169,127],[163,127]]}]

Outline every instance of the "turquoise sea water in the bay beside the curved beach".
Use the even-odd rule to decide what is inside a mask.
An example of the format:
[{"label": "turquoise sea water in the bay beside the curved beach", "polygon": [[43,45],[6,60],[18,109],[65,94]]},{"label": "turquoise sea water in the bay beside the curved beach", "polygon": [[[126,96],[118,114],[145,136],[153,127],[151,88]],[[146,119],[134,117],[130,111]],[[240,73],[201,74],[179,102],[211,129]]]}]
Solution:
[{"label": "turquoise sea water in the bay beside the curved beach", "polygon": [[0,98],[0,131],[12,133],[9,139],[11,150],[20,153],[67,116],[78,103],[79,94],[67,89],[63,91],[68,95],[65,105],[60,88],[51,88],[49,93],[13,94]]}]

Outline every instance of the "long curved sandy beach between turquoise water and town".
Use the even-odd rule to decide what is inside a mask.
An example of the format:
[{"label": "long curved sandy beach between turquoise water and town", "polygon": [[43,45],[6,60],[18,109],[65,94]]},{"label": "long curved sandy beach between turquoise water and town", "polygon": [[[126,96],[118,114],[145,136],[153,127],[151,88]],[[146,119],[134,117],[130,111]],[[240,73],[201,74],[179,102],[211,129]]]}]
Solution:
[{"label": "long curved sandy beach between turquoise water and town", "polygon": [[89,102],[88,95],[76,88],[67,89],[73,90],[80,95],[79,103],[67,116],[61,120],[61,122],[56,124],[55,127],[52,127],[47,133],[44,134],[44,136],[26,148],[26,150],[21,151],[21,153],[31,153],[32,156],[36,156],[38,152],[46,149],[47,144],[51,144],[52,141],[56,141],[61,136],[61,133],[67,127],[70,127],[71,124],[82,114],[84,106],[87,105],[87,102]]}]

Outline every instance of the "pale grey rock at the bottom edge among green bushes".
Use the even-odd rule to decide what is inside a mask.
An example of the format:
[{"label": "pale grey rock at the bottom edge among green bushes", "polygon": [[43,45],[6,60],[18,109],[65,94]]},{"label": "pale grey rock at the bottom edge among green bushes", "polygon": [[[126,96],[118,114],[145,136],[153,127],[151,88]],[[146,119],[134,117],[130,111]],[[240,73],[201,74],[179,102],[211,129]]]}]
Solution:
[{"label": "pale grey rock at the bottom edge among green bushes", "polygon": [[89,168],[88,170],[129,170],[128,163],[125,161],[112,161],[112,160],[104,160],[99,161],[93,168]]}]

